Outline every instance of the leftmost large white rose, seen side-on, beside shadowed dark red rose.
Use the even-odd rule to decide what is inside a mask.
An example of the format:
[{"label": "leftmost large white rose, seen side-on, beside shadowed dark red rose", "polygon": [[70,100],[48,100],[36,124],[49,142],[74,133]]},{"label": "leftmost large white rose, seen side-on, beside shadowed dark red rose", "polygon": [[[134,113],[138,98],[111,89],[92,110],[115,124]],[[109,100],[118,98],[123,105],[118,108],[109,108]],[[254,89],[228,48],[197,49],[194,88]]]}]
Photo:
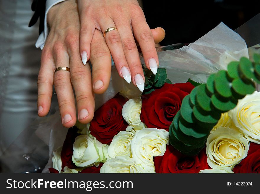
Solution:
[{"label": "leftmost large white rose, seen side-on, beside shadowed dark red rose", "polygon": [[107,147],[92,135],[79,135],[73,144],[72,161],[76,166],[93,166],[105,161]]}]

